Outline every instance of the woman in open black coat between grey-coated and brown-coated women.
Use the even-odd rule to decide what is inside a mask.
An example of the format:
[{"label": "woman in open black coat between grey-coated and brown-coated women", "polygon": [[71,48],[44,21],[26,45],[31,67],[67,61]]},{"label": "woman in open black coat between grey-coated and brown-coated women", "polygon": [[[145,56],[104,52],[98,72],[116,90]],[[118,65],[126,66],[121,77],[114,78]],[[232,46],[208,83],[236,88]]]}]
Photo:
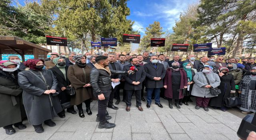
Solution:
[{"label": "woman in open black coat between grey-coated and brown-coated women", "polygon": [[[58,94],[58,97],[60,99],[60,104],[64,104],[66,102],[70,102],[70,95],[68,95],[66,91],[66,87],[70,86],[70,81],[68,80],[68,66],[66,66],[66,62],[64,58],[54,58],[52,60],[56,66],[50,68],[52,70],[52,73],[56,76],[58,80],[58,91],[60,91]],[[74,110],[74,106],[70,106],[67,108],[67,112],[70,112],[72,114],[76,114],[76,111]],[[65,109],[62,110],[62,112],[58,113],[58,116],[60,118],[65,118]]]}]

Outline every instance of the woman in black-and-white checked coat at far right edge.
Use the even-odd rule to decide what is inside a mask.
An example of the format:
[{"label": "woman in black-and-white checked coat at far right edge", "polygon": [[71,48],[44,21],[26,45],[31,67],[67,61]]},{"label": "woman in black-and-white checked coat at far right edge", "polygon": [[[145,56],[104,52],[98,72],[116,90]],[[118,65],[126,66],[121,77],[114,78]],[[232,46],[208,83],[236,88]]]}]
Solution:
[{"label": "woman in black-and-white checked coat at far right edge", "polygon": [[240,110],[243,114],[256,112],[256,90],[250,90],[252,78],[256,79],[256,67],[253,67],[250,70],[250,75],[244,76],[239,84]]}]

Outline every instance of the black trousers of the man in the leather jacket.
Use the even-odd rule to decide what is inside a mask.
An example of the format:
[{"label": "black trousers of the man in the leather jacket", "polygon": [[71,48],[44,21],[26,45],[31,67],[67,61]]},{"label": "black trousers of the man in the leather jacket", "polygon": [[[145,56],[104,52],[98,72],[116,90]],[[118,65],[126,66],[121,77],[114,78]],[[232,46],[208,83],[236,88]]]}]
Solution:
[{"label": "black trousers of the man in the leather jacket", "polygon": [[98,100],[98,115],[100,118],[100,122],[106,121],[106,109],[108,106],[108,100],[111,94],[111,90],[102,90],[104,94],[105,100]]}]

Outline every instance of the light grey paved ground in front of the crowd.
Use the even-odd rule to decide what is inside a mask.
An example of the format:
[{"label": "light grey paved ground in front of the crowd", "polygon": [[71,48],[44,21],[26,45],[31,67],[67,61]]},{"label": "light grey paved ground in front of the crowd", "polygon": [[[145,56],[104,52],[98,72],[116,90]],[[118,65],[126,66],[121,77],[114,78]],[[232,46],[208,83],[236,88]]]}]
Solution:
[{"label": "light grey paved ground in front of the crowd", "polygon": [[[91,116],[85,110],[85,118],[66,112],[66,118],[54,119],[55,127],[43,125],[42,134],[34,132],[33,126],[24,121],[27,128],[15,128],[13,135],[5,134],[1,128],[0,140],[239,140],[236,132],[244,116],[239,110],[222,112],[209,108],[209,112],[205,112],[203,108],[196,110],[195,102],[182,105],[181,109],[170,109],[167,100],[160,100],[164,108],[152,101],[148,109],[146,102],[142,102],[143,112],[136,108],[135,96],[130,112],[126,112],[124,102],[117,105],[118,110],[108,108],[112,116],[110,122],[116,124],[112,129],[97,128],[98,105],[93,101]],[[83,105],[83,108],[86,107]]]}]

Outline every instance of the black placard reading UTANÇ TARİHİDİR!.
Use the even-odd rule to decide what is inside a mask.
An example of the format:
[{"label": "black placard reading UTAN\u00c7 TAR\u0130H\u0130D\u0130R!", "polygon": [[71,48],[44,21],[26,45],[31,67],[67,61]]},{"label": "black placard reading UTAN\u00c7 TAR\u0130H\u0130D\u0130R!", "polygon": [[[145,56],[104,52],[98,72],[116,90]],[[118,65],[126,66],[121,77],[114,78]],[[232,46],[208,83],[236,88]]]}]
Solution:
[{"label": "black placard reading UTAN\u00c7 TAR\u0130H\u0130D\u0130R!", "polygon": [[47,45],[68,46],[67,38],[46,36]]}]

